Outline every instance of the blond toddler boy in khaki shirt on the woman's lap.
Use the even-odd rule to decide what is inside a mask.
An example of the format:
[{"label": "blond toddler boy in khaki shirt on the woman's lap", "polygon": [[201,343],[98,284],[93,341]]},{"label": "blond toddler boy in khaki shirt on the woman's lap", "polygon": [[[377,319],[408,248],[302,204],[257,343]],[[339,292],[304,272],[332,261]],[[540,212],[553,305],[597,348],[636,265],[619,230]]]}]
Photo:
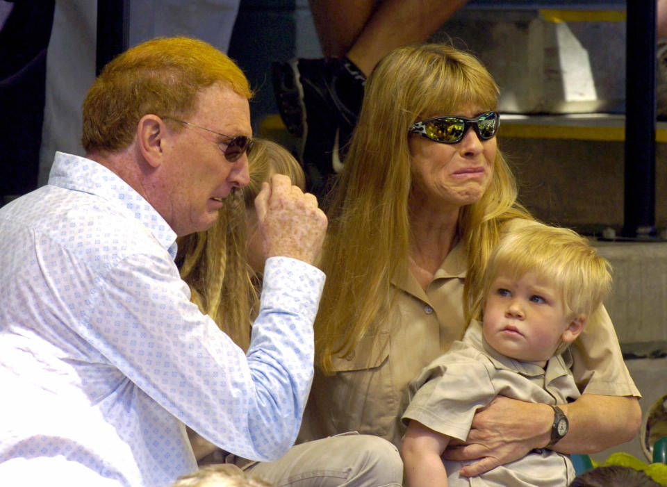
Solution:
[{"label": "blond toddler boy in khaki shirt on the woman's lap", "polygon": [[[580,395],[567,347],[609,293],[609,270],[588,240],[568,229],[535,222],[502,238],[482,283],[482,322],[472,320],[463,340],[411,384],[414,395],[402,417],[410,486],[570,484],[570,459],[550,449],[568,429],[557,404]],[[554,407],[551,442],[478,477],[463,477],[463,463],[441,455],[452,438],[466,440],[475,411],[497,395]]]}]

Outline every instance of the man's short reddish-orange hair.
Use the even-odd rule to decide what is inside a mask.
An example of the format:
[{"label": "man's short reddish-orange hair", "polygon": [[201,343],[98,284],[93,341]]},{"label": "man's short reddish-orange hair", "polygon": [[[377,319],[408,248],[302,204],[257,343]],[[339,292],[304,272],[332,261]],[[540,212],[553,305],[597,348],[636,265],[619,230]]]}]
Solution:
[{"label": "man's short reddish-orange hair", "polygon": [[83,148],[122,150],[141,117],[187,117],[199,92],[215,83],[252,97],[241,69],[211,44],[183,37],[143,42],[111,60],[86,95]]}]

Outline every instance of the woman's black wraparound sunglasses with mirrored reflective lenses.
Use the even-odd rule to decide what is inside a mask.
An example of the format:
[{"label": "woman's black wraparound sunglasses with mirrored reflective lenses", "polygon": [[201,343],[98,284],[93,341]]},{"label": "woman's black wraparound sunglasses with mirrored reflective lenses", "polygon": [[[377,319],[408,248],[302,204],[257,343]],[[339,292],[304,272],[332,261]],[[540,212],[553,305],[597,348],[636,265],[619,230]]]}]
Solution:
[{"label": "woman's black wraparound sunglasses with mirrored reflective lenses", "polygon": [[486,112],[475,118],[454,115],[430,118],[412,124],[408,133],[418,133],[422,137],[443,144],[456,144],[463,140],[463,136],[471,126],[480,140],[493,138],[500,126],[500,113]]}]

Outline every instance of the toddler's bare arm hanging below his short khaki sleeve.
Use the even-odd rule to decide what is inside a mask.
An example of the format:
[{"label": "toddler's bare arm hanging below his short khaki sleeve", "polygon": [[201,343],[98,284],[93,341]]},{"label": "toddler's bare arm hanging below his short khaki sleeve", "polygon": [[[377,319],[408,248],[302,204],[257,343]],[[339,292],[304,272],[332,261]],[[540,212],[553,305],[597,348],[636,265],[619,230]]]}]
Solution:
[{"label": "toddler's bare arm hanging below his short khaki sleeve", "polygon": [[447,472],[440,455],[450,437],[411,420],[401,445],[409,487],[447,487]]}]

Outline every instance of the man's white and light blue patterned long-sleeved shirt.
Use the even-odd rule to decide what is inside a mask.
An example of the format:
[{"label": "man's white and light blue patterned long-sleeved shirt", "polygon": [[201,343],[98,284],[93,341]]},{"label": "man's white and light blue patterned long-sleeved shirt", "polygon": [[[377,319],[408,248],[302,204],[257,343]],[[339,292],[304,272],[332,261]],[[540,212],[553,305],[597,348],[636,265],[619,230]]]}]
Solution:
[{"label": "man's white and light blue patterned long-sleeved shirt", "polygon": [[244,354],[190,303],[175,238],[118,176],[67,154],[1,208],[1,485],[167,486],[197,466],[183,423],[249,459],[292,445],[324,274],[270,258]]}]

